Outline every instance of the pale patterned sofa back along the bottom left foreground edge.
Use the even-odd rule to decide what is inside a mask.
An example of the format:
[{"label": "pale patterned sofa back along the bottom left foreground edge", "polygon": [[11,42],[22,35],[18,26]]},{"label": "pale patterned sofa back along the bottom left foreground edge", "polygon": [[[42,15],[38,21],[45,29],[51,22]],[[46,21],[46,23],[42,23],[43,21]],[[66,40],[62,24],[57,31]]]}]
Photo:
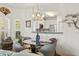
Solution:
[{"label": "pale patterned sofa back along the bottom left foreground edge", "polygon": [[40,55],[29,53],[27,51],[13,52],[9,50],[0,50],[0,56],[40,56]]}]

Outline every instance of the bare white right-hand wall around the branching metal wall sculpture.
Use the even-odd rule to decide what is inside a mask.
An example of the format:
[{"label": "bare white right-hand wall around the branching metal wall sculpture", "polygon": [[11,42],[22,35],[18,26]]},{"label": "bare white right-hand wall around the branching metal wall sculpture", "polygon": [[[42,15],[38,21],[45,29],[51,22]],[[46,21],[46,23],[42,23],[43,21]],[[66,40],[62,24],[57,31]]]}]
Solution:
[{"label": "bare white right-hand wall around the branching metal wall sculpture", "polygon": [[[61,15],[64,16],[70,13],[79,13],[79,4],[63,4]],[[63,23],[62,39],[58,43],[58,53],[63,55],[79,55],[79,30],[72,25],[68,27],[67,24]]]}]

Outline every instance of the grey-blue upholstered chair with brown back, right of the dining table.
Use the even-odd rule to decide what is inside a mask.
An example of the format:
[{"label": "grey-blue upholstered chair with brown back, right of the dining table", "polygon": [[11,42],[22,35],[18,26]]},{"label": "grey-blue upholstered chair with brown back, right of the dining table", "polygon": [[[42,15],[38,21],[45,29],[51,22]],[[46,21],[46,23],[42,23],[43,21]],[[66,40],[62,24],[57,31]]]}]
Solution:
[{"label": "grey-blue upholstered chair with brown back, right of the dining table", "polygon": [[51,42],[41,47],[40,52],[45,56],[54,56],[56,52],[56,38],[51,38]]}]

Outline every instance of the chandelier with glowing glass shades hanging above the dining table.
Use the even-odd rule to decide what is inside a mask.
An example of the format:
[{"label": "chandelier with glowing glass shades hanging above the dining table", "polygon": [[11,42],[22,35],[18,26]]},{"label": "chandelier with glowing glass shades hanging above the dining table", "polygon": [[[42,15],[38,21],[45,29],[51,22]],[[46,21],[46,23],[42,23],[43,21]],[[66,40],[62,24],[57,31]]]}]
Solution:
[{"label": "chandelier with glowing glass shades hanging above the dining table", "polygon": [[39,4],[37,4],[37,9],[33,11],[32,19],[33,20],[42,20],[44,15],[39,10]]}]

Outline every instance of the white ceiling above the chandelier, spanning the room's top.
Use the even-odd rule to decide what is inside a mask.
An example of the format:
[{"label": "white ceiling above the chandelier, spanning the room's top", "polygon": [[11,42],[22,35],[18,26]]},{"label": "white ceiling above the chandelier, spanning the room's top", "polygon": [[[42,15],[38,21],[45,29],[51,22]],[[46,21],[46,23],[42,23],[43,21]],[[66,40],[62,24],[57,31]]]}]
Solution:
[{"label": "white ceiling above the chandelier, spanning the room's top", "polygon": [[[10,8],[37,8],[36,3],[0,3],[0,6],[7,6]],[[41,10],[60,10],[60,9],[79,9],[79,3],[39,3]]]}]

